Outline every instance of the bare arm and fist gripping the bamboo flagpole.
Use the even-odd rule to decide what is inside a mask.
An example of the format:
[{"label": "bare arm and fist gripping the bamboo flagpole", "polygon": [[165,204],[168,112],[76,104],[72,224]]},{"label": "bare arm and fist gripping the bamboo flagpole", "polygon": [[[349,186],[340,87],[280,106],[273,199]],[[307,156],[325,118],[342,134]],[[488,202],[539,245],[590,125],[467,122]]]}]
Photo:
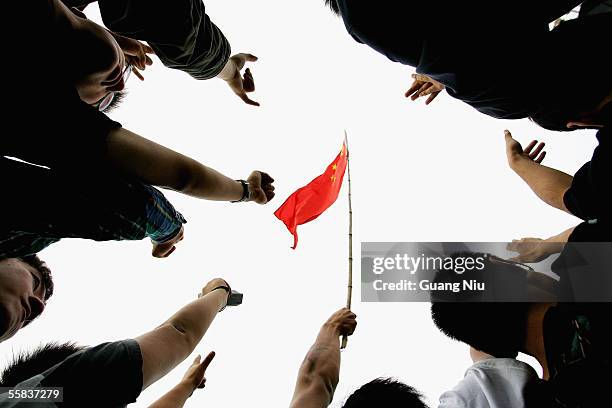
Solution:
[{"label": "bare arm and fist gripping the bamboo flagpole", "polygon": [[340,336],[353,334],[356,317],[342,308],[323,324],[298,372],[291,408],[323,408],[332,402],[340,377]]}]

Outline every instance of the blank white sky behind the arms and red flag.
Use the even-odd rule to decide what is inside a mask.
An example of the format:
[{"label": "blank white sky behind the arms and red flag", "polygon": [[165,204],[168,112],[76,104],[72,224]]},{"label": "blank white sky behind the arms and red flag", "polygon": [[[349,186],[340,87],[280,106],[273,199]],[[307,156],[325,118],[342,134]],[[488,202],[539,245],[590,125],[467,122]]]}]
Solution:
[{"label": "blank white sky behind the arms and red flag", "polygon": [[[547,237],[577,223],[540,202],[510,171],[503,130],[524,145],[546,141],[546,164],[570,174],[590,158],[592,132],[554,134],[527,120],[495,120],[446,94],[428,107],[410,102],[403,94],[413,70],[354,42],[323,0],[206,5],[234,53],[260,58],[250,66],[253,98],[262,106],[244,105],[220,80],[199,82],[156,60],[144,83],[130,79],[127,100],[111,116],[231,177],[265,170],[276,179],[277,198],[257,206],[168,192],[188,224],[185,240],[165,260],[149,255],[147,241],[64,240],[46,249],[40,255],[54,272],[56,294],[42,318],[0,345],[0,363],[51,340],[95,345],[138,336],[219,276],[244,292],[244,304],[219,315],[197,348],[217,357],[205,390],[186,406],[288,405],[320,325],[345,302],[346,186],[334,206],[299,229],[296,251],[272,213],[332,161],[344,129],[356,259],[362,241],[507,241]],[[86,11],[98,18],[95,6]],[[429,304],[360,303],[358,261],[355,267],[359,325],[342,355],[333,405],[364,382],[395,376],[435,406],[470,365],[467,346],[438,332]],[[134,406],[169,390],[192,359]]]}]

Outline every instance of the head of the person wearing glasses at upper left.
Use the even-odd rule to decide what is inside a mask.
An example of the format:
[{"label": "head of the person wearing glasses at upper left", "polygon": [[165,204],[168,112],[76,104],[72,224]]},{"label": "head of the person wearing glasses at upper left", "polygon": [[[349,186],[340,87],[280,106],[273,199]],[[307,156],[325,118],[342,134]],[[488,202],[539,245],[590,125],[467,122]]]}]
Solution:
[{"label": "head of the person wearing glasses at upper left", "polygon": [[[87,19],[77,9],[71,9],[70,32],[66,44],[70,47],[70,75],[81,100],[98,107],[110,94],[115,98],[125,88],[129,74],[125,54],[116,37],[104,27]],[[116,105],[111,104],[103,111]]]}]

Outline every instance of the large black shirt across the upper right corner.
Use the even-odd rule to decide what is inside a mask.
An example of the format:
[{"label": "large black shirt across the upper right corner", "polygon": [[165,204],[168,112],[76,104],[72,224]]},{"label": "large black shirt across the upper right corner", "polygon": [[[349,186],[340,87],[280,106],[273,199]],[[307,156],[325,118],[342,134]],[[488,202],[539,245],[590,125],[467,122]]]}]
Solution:
[{"label": "large black shirt across the upper right corner", "polygon": [[[410,2],[338,0],[347,31],[395,62],[441,82],[454,98],[503,119],[530,116],[559,99],[580,98],[579,73],[609,81],[601,60],[609,16],[548,23],[578,1]],[[568,58],[580,49],[581,58]],[[609,82],[608,82],[609,83]],[[559,90],[563,92],[560,93]]]}]

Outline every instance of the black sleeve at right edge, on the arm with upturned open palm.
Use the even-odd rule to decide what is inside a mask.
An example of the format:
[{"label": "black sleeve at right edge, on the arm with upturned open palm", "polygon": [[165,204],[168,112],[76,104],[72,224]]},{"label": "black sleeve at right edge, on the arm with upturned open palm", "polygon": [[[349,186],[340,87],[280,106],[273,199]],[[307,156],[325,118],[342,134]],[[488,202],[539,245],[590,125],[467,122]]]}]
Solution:
[{"label": "black sleeve at right edge, on the arm with upturned open palm", "polygon": [[605,127],[597,132],[593,157],[574,175],[563,202],[583,220],[612,218],[612,103],[603,111]]}]

